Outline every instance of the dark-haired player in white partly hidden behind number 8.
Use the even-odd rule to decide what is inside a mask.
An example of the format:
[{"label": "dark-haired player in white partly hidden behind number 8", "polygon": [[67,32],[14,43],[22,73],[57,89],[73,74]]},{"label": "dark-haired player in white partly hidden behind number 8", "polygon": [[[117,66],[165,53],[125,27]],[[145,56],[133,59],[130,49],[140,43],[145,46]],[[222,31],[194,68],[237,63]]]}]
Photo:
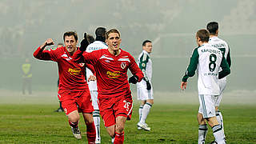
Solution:
[{"label": "dark-haired player in white partly hidden behind number 8", "polygon": [[[225,41],[223,41],[221,38],[218,38],[218,22],[209,22],[206,28],[210,32],[210,39],[209,39],[210,45],[218,48],[218,50],[222,50],[222,54],[226,58],[226,62],[229,64],[229,66],[231,66],[230,48]],[[226,77],[219,79],[218,85],[221,93],[218,96],[215,96],[214,106],[216,111],[216,118],[218,120],[218,123],[222,125],[222,131],[224,134],[222,113],[218,109],[218,106],[222,100],[223,91],[226,88]],[[225,134],[224,134],[224,138],[225,138]]]}]

